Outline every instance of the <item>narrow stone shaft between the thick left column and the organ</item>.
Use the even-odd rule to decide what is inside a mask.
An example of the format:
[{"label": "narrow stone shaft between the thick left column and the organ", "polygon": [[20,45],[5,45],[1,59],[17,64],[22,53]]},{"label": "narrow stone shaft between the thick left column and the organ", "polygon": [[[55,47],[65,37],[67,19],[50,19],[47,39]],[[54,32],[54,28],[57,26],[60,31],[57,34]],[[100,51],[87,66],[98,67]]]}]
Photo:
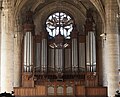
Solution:
[{"label": "narrow stone shaft between the thick left column and the organ", "polygon": [[14,87],[20,87],[21,85],[21,31],[19,25],[19,19],[17,18],[14,28]]}]

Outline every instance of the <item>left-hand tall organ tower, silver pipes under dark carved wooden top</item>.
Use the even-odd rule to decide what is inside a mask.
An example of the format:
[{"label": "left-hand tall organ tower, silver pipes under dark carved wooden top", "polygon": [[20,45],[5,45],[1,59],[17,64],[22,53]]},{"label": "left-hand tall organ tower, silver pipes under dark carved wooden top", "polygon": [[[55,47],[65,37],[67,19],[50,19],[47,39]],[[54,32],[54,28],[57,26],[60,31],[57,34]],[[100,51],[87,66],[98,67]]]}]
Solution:
[{"label": "left-hand tall organ tower, silver pipes under dark carved wooden top", "polygon": [[24,29],[24,54],[23,54],[23,71],[32,72],[33,70],[33,34],[34,23],[32,19],[32,12],[27,11],[25,17]]}]

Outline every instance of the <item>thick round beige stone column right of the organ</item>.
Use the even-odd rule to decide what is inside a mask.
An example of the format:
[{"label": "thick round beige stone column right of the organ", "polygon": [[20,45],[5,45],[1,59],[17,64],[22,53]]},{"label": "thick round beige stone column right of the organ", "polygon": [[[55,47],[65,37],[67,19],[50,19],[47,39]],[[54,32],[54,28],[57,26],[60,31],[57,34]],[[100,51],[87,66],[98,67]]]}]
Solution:
[{"label": "thick round beige stone column right of the organ", "polygon": [[119,34],[117,25],[117,1],[106,0],[106,41],[104,49],[103,85],[108,87],[108,96],[113,97],[118,89]]}]

